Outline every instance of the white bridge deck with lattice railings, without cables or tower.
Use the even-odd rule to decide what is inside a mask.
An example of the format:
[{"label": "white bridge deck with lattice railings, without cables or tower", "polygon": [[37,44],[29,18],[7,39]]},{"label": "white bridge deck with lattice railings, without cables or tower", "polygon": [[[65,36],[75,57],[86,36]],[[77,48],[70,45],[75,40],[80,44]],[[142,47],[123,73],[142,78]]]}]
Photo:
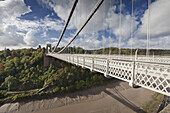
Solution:
[{"label": "white bridge deck with lattice railings, without cables or tower", "polygon": [[56,53],[47,56],[129,82],[132,87],[141,86],[170,96],[170,57]]}]

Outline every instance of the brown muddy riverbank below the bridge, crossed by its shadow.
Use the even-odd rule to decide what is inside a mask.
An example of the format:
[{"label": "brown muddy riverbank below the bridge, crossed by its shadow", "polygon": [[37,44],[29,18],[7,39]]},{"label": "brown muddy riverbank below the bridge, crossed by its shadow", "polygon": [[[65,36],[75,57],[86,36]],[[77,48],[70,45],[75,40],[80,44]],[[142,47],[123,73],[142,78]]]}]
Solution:
[{"label": "brown muddy riverbank below the bridge, crossed by its shadow", "polygon": [[142,107],[152,100],[154,94],[155,92],[144,88],[131,88],[126,82],[116,82],[63,97],[4,104],[0,107],[0,113],[143,112]]}]

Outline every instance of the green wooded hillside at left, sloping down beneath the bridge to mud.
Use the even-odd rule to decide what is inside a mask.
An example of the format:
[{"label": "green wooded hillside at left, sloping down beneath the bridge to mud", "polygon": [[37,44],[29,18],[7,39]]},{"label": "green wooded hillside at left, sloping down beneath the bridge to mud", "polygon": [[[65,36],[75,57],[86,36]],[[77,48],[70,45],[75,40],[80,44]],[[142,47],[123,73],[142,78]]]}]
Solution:
[{"label": "green wooded hillside at left, sloping down beneath the bridge to mud", "polygon": [[[82,48],[76,51],[84,52]],[[41,47],[37,50],[31,48],[10,51],[6,49],[0,52],[0,89],[23,91],[48,86],[50,90],[39,94],[14,94],[8,98],[16,101],[33,96],[63,94],[108,81],[102,74],[90,72],[60,60],[56,60],[54,65],[44,69],[43,52],[44,49]],[[5,98],[7,94],[1,93],[0,97]]]}]

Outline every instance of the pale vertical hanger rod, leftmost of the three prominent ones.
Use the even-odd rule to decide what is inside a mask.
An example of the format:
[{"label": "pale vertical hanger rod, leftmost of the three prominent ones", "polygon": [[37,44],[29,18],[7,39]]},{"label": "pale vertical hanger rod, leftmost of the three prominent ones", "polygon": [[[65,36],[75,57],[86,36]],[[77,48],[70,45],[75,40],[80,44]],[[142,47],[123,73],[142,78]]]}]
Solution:
[{"label": "pale vertical hanger rod, leftmost of the three prominent ones", "polygon": [[121,54],[121,38],[122,38],[122,0],[120,0],[120,20],[119,20],[119,55]]}]

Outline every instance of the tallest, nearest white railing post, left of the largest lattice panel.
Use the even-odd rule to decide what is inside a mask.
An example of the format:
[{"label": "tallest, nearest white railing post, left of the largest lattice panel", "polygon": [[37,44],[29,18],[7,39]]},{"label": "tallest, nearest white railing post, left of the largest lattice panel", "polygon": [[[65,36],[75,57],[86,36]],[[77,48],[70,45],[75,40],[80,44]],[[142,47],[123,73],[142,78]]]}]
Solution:
[{"label": "tallest, nearest white railing post, left of the largest lattice panel", "polygon": [[135,65],[136,65],[136,61],[137,61],[137,52],[138,52],[138,49],[136,50],[135,52],[135,59],[132,63],[132,77],[131,77],[131,81],[129,82],[129,86],[135,88],[136,85],[135,85],[135,79],[136,79],[136,73],[135,73]]}]

